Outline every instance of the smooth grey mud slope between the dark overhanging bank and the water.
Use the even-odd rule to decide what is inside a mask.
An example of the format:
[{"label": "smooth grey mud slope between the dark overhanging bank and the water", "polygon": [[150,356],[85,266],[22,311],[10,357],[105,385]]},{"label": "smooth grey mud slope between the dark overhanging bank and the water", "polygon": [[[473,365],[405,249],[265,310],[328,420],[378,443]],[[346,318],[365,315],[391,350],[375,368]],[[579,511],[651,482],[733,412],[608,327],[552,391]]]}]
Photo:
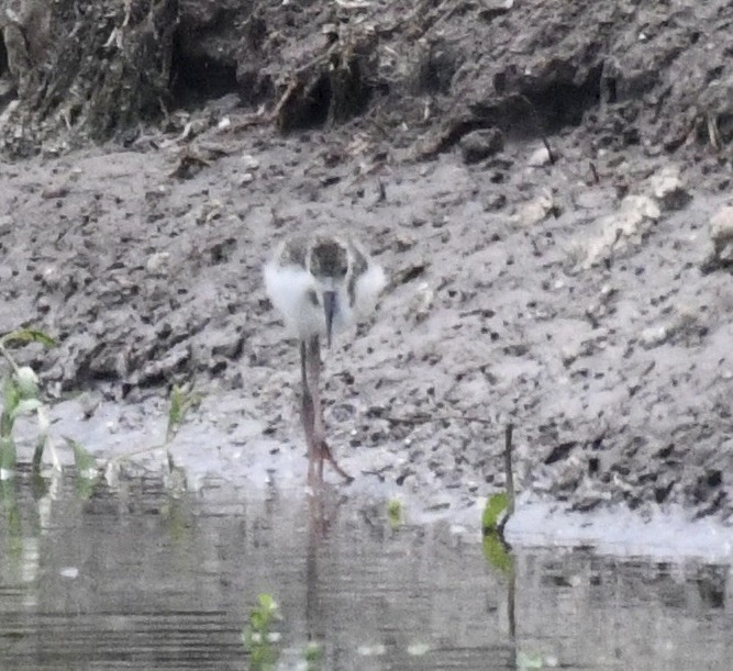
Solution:
[{"label": "smooth grey mud slope between the dark overhanging bank and the water", "polygon": [[[574,163],[508,170],[501,184],[456,156],[355,179],[314,167],[300,138],[277,142],[256,159],[243,144],[190,180],[162,153],[132,152],[9,177],[3,206],[22,224],[3,235],[3,329],[30,320],[59,337],[29,349],[52,390],[135,403],[196,379],[212,411],[229,394],[222,451],[275,440],[302,455],[297,348],[260,268],[288,231],[347,225],[391,277],[376,321],[326,354],[347,469],[469,501],[502,484],[511,420],[523,488],[580,510],[679,503],[728,518],[730,275],[700,269],[721,197],[687,188],[682,210],[641,217],[607,249],[619,200],[575,180]],[[517,164],[534,148],[518,145]],[[554,183],[557,216],[529,222]],[[487,209],[499,197],[508,204]],[[260,433],[240,435],[252,421]]]}]

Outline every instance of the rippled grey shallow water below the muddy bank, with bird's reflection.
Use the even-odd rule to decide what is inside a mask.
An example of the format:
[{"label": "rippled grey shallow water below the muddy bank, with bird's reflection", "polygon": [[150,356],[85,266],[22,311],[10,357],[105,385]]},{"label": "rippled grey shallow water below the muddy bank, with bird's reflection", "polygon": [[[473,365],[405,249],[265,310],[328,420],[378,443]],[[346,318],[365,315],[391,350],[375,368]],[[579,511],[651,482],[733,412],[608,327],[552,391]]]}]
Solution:
[{"label": "rippled grey shallow water below the muddy bank, with bird's reflection", "polygon": [[[386,502],[137,477],[3,484],[0,668],[246,669],[259,593],[277,669],[729,669],[729,564],[515,549],[513,571]],[[409,511],[407,511],[409,515]]]}]

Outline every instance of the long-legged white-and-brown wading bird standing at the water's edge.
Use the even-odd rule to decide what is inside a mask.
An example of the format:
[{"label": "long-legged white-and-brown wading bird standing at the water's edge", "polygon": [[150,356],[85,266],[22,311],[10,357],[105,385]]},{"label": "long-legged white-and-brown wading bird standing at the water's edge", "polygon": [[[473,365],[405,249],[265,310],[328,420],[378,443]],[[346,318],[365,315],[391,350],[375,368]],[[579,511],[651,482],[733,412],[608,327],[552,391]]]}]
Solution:
[{"label": "long-legged white-and-brown wading bird standing at the water's edge", "polygon": [[353,478],[325,439],[320,395],[321,340],[368,317],[386,284],[381,266],[348,235],[319,231],[286,238],[266,264],[265,288],[287,332],[299,340],[301,421],[308,445],[308,480],[323,481],[329,461],[347,482]]}]

